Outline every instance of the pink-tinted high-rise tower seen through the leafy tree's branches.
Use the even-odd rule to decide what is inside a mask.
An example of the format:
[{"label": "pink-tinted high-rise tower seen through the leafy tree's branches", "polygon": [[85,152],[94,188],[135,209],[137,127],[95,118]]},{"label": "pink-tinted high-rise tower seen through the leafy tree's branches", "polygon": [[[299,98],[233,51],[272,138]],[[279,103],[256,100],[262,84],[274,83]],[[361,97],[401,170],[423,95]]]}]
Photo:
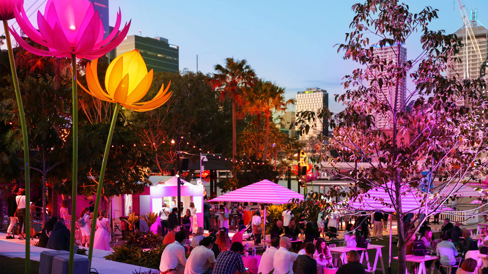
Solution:
[{"label": "pink-tinted high-rise tower seen through the leafy tree's branches", "polygon": [[[380,59],[386,59],[386,61],[393,61],[394,63],[397,62],[398,58],[400,58],[400,62],[406,62],[407,61],[407,49],[404,48],[403,46],[400,46],[400,49],[398,46],[377,46],[373,45],[374,48],[374,54],[377,55]],[[400,56],[397,55],[397,51],[400,50]],[[386,73],[386,71],[380,71],[380,70],[375,70],[373,71],[373,74],[376,76],[380,76],[382,73]],[[391,107],[394,107],[396,104],[397,110],[400,110],[402,107],[403,103],[405,102],[406,99],[406,91],[407,91],[407,79],[403,79],[398,86],[398,95],[396,94],[396,86],[388,86],[388,85],[383,85],[381,87],[381,92],[377,93],[378,98],[388,101]],[[395,102],[396,99],[396,102]],[[403,106],[405,107],[405,105]],[[376,117],[376,126],[380,129],[390,129],[392,126],[388,122],[388,118],[386,117]]]}]

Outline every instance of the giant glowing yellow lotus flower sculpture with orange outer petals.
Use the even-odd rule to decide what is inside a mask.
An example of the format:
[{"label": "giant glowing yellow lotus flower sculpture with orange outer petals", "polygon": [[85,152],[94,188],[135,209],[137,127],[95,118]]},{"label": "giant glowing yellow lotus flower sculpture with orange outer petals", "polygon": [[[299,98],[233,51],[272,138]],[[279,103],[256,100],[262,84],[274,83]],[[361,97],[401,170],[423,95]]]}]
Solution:
[{"label": "giant glowing yellow lotus flower sculpture with orange outer petals", "polygon": [[149,101],[141,100],[151,87],[153,70],[147,72],[147,67],[137,49],[126,52],[115,58],[108,65],[105,73],[105,92],[100,85],[97,74],[98,59],[86,65],[86,82],[88,89],[83,88],[88,94],[104,101],[120,103],[122,106],[134,111],[149,111],[160,107],[172,95],[168,92],[171,81],[164,89],[161,86],[158,94]]}]

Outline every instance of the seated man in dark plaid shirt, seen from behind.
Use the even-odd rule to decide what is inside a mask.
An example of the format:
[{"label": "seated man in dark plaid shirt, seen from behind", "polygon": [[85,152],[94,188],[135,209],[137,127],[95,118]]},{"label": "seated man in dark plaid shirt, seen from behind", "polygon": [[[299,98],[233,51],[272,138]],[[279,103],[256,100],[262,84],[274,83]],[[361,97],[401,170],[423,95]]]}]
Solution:
[{"label": "seated man in dark plaid shirt, seen from behind", "polygon": [[243,251],[242,243],[232,243],[230,250],[221,252],[217,257],[212,274],[234,274],[236,270],[244,272],[244,262],[241,257]]}]

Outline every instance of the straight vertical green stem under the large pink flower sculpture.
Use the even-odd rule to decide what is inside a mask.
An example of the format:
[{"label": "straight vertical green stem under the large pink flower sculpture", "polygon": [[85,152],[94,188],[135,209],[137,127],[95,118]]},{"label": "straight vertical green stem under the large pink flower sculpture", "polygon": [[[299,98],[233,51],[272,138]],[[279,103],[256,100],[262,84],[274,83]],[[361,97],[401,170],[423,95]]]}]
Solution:
[{"label": "straight vertical green stem under the large pink flower sculpture", "polygon": [[73,84],[73,181],[71,187],[71,238],[69,241],[69,267],[68,273],[73,274],[73,261],[75,257],[75,223],[76,198],[78,184],[78,83],[76,82],[76,55],[71,54],[71,81]]}]

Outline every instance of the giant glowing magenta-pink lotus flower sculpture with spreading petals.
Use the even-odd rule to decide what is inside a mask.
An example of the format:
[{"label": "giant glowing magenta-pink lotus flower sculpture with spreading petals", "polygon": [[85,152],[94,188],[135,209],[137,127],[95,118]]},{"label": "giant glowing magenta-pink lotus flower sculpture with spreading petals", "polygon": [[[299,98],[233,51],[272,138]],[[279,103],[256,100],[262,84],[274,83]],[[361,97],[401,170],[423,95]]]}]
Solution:
[{"label": "giant glowing magenta-pink lotus flower sculpture with spreading petals", "polygon": [[27,51],[40,56],[97,59],[117,47],[127,35],[129,23],[122,31],[121,12],[117,13],[114,30],[103,39],[103,25],[98,11],[88,0],[48,0],[44,10],[37,13],[37,30],[29,21],[19,0],[14,9],[15,19],[22,31],[33,41],[46,46],[49,51],[32,47],[12,28],[10,32]]}]

